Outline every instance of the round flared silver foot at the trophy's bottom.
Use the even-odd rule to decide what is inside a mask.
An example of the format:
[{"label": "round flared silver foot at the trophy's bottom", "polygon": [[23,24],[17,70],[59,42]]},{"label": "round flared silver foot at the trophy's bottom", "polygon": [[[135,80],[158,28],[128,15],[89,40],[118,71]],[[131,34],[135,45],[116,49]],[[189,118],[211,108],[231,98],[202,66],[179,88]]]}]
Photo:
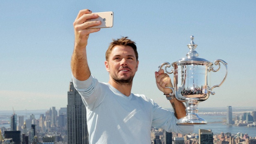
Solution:
[{"label": "round flared silver foot at the trophy's bottom", "polygon": [[184,118],[180,118],[177,121],[177,124],[201,125],[201,124],[207,124],[207,121],[205,121],[204,118],[201,118],[197,114],[190,114],[190,115],[185,116]]}]

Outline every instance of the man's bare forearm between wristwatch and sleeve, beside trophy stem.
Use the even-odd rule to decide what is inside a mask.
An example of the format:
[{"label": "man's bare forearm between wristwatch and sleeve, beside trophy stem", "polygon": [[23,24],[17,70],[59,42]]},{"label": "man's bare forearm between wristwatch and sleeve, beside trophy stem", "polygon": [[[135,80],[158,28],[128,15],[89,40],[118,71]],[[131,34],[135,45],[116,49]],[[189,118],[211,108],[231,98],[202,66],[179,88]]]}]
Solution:
[{"label": "man's bare forearm between wristwatch and sleeve, beside trophy stem", "polygon": [[183,102],[178,101],[176,98],[170,100],[171,105],[174,109],[175,117],[180,119],[186,116],[186,107]]}]

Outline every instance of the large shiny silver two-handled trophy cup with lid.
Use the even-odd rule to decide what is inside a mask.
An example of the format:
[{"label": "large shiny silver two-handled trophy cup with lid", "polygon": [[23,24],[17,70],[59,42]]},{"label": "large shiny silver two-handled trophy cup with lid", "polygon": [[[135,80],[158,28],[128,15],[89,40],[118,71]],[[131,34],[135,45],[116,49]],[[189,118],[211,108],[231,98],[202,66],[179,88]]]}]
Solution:
[{"label": "large shiny silver two-handled trophy cup with lid", "polygon": [[[187,53],[186,58],[182,58],[172,64],[165,62],[159,66],[159,70],[165,66],[165,71],[168,74],[174,75],[173,85],[174,88],[170,95],[175,95],[176,99],[185,102],[187,116],[180,118],[178,124],[207,124],[204,118],[198,116],[198,103],[209,98],[209,95],[214,95],[213,88],[219,87],[225,81],[228,74],[227,63],[224,60],[216,60],[215,65],[218,65],[218,69],[214,69],[213,63],[204,58],[199,58],[195,48],[197,44],[194,44],[194,36],[190,37],[191,42],[188,44],[190,51]],[[220,63],[225,66],[225,76],[220,84],[210,87],[208,85],[209,72],[218,72],[220,70]],[[171,71],[166,70],[167,67],[173,66]]]}]

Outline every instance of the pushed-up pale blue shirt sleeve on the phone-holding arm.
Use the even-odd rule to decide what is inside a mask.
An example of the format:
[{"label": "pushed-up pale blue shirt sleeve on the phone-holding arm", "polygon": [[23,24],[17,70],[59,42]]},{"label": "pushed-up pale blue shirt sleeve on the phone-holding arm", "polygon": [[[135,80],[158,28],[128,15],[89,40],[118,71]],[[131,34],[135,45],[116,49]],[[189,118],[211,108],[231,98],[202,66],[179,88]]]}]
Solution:
[{"label": "pushed-up pale blue shirt sleeve on the phone-holding arm", "polygon": [[103,100],[102,86],[100,86],[97,79],[95,79],[92,75],[90,75],[90,77],[85,81],[79,81],[73,77],[73,75],[72,79],[74,87],[81,95],[86,108],[92,110],[100,105]]}]

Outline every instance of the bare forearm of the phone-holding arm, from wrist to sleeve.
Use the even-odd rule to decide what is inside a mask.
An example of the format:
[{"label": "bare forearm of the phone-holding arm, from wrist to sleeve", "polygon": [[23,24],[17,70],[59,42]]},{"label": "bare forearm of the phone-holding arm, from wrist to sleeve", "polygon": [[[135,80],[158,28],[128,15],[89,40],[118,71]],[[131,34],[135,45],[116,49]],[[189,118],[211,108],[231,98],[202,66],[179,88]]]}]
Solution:
[{"label": "bare forearm of the phone-holding arm, from wrist to sleeve", "polygon": [[73,76],[80,81],[84,81],[90,77],[90,69],[86,56],[86,48],[74,48],[71,58],[71,70]]}]

